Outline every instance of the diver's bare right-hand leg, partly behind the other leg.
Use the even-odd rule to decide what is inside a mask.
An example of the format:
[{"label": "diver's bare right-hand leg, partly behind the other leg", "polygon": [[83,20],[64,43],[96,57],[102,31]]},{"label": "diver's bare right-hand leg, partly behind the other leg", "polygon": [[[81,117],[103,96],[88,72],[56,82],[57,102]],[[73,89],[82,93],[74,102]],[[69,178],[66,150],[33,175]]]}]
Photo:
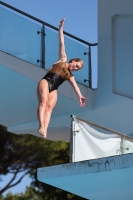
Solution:
[{"label": "diver's bare right-hand leg, partly behind the other leg", "polygon": [[54,90],[49,93],[48,102],[45,109],[45,117],[44,117],[44,127],[45,127],[45,136],[47,136],[47,128],[50,122],[51,114],[53,108],[55,107],[57,102],[57,90]]}]

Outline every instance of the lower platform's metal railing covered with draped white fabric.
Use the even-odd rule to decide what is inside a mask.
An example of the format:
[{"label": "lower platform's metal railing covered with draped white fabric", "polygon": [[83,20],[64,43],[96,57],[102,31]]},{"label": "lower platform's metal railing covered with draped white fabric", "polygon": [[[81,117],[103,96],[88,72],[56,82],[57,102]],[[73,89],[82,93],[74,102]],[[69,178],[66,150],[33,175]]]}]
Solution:
[{"label": "lower platform's metal railing covered with draped white fabric", "polygon": [[133,138],[71,116],[70,162],[133,153]]}]

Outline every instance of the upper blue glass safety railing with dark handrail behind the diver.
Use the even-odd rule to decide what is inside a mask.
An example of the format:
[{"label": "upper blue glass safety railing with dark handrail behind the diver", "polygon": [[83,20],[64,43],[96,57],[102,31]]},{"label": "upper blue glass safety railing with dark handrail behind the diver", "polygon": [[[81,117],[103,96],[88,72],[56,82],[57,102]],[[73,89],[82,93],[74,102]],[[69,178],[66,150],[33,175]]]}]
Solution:
[{"label": "upper blue glass safety railing with dark handrail behind the diver", "polygon": [[[49,69],[58,59],[58,28],[0,1],[0,51]],[[91,44],[64,31],[68,61],[79,57],[84,68],[74,74],[92,88]]]}]

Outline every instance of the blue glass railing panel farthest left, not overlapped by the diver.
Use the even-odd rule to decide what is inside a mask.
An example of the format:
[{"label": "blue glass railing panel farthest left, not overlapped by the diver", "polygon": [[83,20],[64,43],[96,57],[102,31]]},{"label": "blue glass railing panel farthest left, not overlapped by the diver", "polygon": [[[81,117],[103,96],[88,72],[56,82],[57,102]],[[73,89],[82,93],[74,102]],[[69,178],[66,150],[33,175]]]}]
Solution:
[{"label": "blue glass railing panel farthest left, not overlapped by the diver", "polygon": [[41,26],[0,7],[0,50],[41,66]]}]

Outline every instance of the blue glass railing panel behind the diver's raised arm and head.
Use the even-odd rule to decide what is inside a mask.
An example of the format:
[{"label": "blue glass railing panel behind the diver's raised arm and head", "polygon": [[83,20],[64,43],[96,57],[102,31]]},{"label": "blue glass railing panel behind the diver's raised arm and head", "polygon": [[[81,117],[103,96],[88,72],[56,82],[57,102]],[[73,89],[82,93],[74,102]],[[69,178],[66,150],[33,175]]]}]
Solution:
[{"label": "blue glass railing panel behind the diver's raised arm and head", "polygon": [[[49,69],[58,59],[58,33],[45,28],[45,34],[45,68]],[[88,86],[88,81],[84,82],[84,79],[89,79],[88,54],[84,55],[84,52],[88,53],[88,47],[65,37],[65,49],[68,61],[71,58],[81,58],[84,61],[83,69],[73,72],[73,75],[78,83]]]}]

